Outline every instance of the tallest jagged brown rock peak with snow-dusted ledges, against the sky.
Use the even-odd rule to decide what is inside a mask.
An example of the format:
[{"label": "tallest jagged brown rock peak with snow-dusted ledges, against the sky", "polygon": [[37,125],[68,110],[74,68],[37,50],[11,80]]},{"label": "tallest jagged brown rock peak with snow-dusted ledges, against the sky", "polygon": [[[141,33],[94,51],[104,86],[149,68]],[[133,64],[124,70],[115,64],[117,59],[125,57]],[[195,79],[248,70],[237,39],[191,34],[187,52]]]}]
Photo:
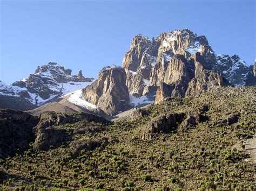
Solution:
[{"label": "tallest jagged brown rock peak with snow-dusted ledges, against the sky", "polygon": [[145,95],[149,86],[159,87],[159,92],[168,87],[162,83],[171,85],[157,101],[163,95],[194,95],[213,86],[244,86],[254,79],[252,66],[239,56],[216,54],[205,36],[187,29],[162,33],[152,40],[139,34],[132,39],[122,66],[134,96]]}]

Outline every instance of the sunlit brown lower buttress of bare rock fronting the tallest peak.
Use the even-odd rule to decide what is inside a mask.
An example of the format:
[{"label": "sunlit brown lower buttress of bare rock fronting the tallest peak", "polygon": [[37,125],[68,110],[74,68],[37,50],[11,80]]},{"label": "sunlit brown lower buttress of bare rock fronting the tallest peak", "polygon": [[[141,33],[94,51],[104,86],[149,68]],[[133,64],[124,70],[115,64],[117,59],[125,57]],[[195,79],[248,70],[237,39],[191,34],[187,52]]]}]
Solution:
[{"label": "sunlit brown lower buttress of bare rock fronting the tallest peak", "polygon": [[164,83],[156,94],[156,103],[167,97],[184,97],[204,93],[218,86],[231,86],[223,74],[215,72],[199,52],[187,61],[174,55],[166,69]]}]

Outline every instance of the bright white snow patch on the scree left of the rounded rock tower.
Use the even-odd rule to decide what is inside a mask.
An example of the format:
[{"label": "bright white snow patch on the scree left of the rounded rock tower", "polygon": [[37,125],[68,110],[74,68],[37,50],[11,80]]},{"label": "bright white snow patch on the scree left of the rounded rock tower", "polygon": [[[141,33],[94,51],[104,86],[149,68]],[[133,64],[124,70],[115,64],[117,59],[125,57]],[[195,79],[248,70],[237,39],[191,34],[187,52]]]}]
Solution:
[{"label": "bright white snow patch on the scree left of the rounded rock tower", "polygon": [[86,109],[98,109],[96,105],[93,105],[92,103],[89,103],[84,100],[82,96],[82,89],[79,89],[74,91],[73,93],[70,93],[68,101],[73,104],[79,105],[80,107],[84,107]]}]

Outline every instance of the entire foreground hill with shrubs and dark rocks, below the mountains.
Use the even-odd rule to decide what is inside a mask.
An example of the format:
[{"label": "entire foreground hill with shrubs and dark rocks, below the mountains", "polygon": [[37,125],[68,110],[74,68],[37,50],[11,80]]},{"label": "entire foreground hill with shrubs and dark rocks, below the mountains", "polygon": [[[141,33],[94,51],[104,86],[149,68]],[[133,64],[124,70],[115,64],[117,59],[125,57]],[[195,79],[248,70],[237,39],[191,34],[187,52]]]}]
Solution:
[{"label": "entire foreground hill with shrubs and dark rocks, below the mountains", "polygon": [[0,139],[0,151],[12,151],[2,154],[0,189],[253,190],[255,164],[245,141],[255,139],[255,93],[220,87],[111,123],[2,110],[0,131],[8,125],[19,135],[28,131],[30,144],[12,133],[4,136],[8,144]]}]

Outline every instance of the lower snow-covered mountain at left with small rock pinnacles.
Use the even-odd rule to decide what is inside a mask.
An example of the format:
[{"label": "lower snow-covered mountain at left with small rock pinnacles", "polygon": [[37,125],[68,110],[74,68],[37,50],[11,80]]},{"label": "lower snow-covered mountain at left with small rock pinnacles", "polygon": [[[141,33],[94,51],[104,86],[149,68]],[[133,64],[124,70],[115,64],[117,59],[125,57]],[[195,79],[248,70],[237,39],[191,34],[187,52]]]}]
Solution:
[{"label": "lower snow-covered mountain at left with small rock pinnacles", "polygon": [[0,81],[0,101],[4,102],[2,100],[8,97],[22,100],[29,106],[24,105],[23,108],[17,109],[29,110],[53,101],[61,95],[82,89],[94,80],[84,77],[82,70],[78,75],[71,75],[71,72],[71,69],[65,69],[57,63],[49,62],[41,67],[38,66],[35,74],[30,74],[28,78],[16,81],[11,85]]}]

